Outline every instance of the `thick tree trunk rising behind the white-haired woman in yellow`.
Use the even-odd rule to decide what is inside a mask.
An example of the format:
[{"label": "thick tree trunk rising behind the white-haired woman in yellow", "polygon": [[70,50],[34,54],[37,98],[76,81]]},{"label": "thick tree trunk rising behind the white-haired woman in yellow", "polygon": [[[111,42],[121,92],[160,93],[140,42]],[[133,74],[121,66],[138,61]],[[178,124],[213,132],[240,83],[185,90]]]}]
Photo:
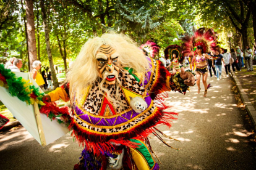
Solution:
[{"label": "thick tree trunk rising behind the white-haired woman in yellow", "polygon": [[30,63],[30,71],[33,70],[32,64],[37,60],[36,55],[36,38],[35,38],[35,22],[33,12],[33,0],[26,0],[26,16],[27,16],[27,33],[28,33],[28,55]]}]

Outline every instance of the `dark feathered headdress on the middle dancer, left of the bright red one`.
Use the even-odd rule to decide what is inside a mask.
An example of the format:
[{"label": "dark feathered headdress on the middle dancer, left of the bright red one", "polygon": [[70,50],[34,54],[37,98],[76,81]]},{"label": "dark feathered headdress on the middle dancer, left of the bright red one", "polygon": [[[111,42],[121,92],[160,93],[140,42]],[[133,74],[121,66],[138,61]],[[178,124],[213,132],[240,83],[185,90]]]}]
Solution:
[{"label": "dark feathered headdress on the middle dancer, left of the bright red one", "polygon": [[176,54],[176,56],[179,60],[179,63],[183,62],[184,56],[181,52],[181,46],[170,45],[170,46],[166,47],[166,49],[164,50],[165,59],[173,60],[173,54]]}]

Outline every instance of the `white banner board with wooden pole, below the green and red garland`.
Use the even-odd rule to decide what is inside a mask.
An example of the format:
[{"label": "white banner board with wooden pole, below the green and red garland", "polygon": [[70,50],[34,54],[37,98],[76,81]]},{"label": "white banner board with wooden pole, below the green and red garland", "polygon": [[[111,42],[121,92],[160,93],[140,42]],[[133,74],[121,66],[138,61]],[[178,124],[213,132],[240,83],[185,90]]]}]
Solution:
[{"label": "white banner board with wooden pole, below the green and red garland", "polygon": [[[28,73],[15,72],[15,74],[25,80],[29,79]],[[39,87],[33,78],[30,78],[30,81],[35,87]],[[59,124],[56,119],[51,121],[45,114],[37,115],[36,113],[39,113],[37,103],[35,103],[36,106],[27,105],[26,102],[22,102],[18,97],[12,97],[8,89],[1,86],[0,100],[42,146],[51,144],[54,140],[69,132],[67,126]]]}]

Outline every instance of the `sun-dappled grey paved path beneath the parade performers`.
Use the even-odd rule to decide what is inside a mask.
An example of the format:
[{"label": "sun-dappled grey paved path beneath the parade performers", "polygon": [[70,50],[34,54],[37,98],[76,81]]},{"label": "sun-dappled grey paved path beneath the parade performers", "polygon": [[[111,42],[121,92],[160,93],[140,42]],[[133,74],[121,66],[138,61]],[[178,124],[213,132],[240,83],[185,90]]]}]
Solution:
[{"label": "sun-dappled grey paved path beneath the parade performers", "polygon": [[[160,127],[177,151],[151,140],[161,169],[256,169],[255,147],[247,130],[244,111],[236,107],[231,78],[208,78],[213,87],[208,97],[197,94],[197,87],[186,95],[170,92],[166,100],[179,112],[171,129]],[[67,134],[47,147],[20,127],[0,134],[0,169],[72,169],[82,148]]]}]

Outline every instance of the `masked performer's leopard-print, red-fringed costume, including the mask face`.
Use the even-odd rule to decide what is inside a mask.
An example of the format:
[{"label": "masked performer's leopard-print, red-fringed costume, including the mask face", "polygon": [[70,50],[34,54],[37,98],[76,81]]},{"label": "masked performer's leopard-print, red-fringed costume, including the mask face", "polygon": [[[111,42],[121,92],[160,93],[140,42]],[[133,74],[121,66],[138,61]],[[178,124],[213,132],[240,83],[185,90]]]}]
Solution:
[{"label": "masked performer's leopard-print, red-fringed costume, including the mask face", "polygon": [[[112,36],[119,38],[116,34]],[[51,101],[73,99],[70,128],[79,144],[85,145],[75,169],[159,169],[151,156],[153,151],[147,137],[154,134],[163,141],[160,134],[168,136],[159,131],[156,125],[171,127],[171,119],[176,119],[173,115],[177,113],[163,111],[168,108],[163,104],[162,98],[168,96],[164,91],[185,94],[189,87],[184,84],[179,73],[172,75],[159,61],[150,57],[145,60],[148,63],[145,76],[126,67],[125,62],[120,64],[119,60],[125,59],[121,57],[122,51],[112,47],[116,39],[106,42],[105,37],[109,39],[112,36],[101,36],[103,45],[95,57],[100,78],[86,86],[80,98],[76,92],[74,98],[70,96],[74,85],[69,82],[50,92],[49,96]],[[138,56],[141,60],[145,59],[142,54]],[[117,77],[115,71],[119,71]],[[72,69],[69,73],[72,73]],[[107,83],[102,83],[105,78]]]}]

